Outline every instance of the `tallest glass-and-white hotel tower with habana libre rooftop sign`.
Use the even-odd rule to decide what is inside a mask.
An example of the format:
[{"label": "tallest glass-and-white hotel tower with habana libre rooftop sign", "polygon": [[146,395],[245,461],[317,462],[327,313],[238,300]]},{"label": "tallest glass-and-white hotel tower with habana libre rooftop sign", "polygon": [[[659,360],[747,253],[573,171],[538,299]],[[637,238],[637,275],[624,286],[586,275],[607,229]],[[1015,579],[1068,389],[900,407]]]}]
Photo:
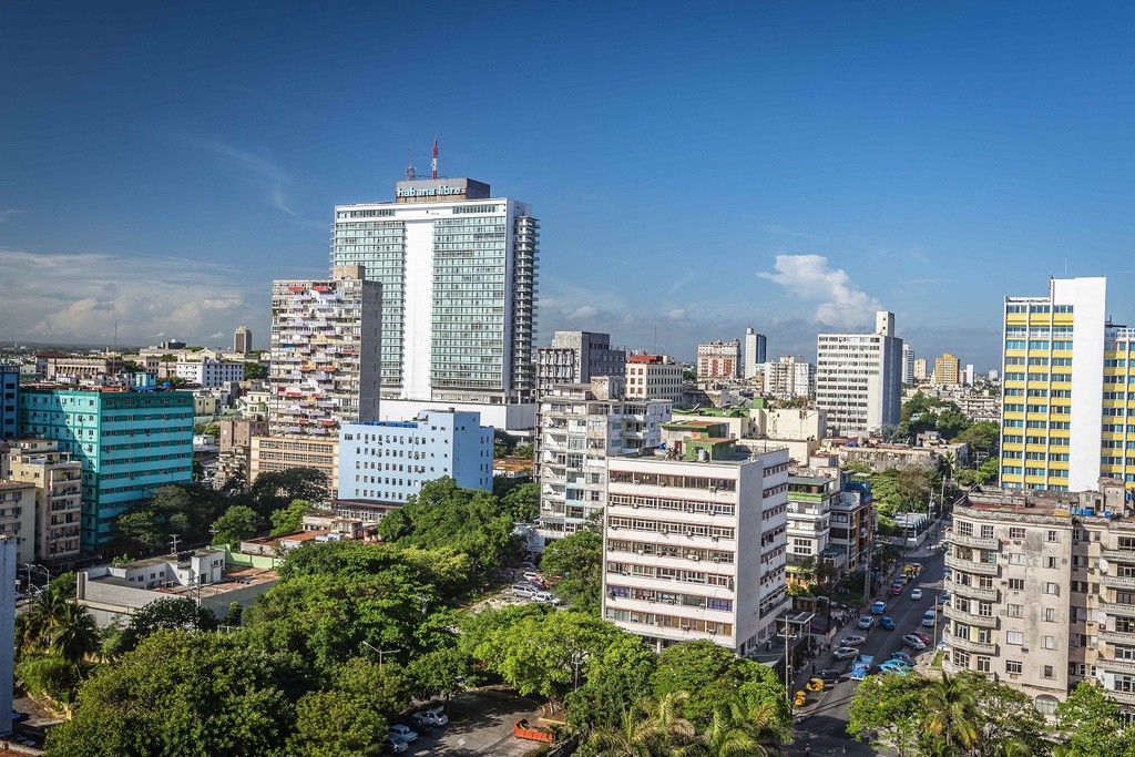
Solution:
[{"label": "tallest glass-and-white hotel tower with habana libre rooftop sign", "polygon": [[335,208],[331,264],[382,284],[384,420],[445,403],[532,428],[538,226],[530,205],[469,178]]}]

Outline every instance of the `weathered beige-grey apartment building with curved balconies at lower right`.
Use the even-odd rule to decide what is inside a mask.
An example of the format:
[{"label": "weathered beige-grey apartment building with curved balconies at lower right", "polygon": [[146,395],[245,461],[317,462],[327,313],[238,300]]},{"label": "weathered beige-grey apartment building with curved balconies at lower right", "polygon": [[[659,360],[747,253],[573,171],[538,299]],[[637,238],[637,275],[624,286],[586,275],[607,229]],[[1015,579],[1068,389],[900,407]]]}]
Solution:
[{"label": "weathered beige-grey apartment building with curved balconies at lower right", "polygon": [[1048,715],[1087,681],[1135,716],[1135,518],[1123,481],[1098,489],[987,487],[955,508],[947,671],[987,673]]}]

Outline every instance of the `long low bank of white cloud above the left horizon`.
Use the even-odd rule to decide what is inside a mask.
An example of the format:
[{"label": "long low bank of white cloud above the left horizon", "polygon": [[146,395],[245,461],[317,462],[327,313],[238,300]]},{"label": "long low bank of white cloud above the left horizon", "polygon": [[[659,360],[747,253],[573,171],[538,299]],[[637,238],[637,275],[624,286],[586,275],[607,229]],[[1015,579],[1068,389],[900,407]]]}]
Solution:
[{"label": "long low bank of white cloud above the left horizon", "polygon": [[0,338],[151,344],[173,335],[216,342],[264,322],[269,287],[246,272],[179,258],[37,254],[0,249]]}]

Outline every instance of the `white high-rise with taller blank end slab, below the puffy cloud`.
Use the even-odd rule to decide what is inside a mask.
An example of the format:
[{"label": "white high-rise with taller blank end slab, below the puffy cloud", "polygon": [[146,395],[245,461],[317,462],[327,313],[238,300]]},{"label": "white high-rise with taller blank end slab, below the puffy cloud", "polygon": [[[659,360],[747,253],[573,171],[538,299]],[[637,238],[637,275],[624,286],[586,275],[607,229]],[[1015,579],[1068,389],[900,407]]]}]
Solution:
[{"label": "white high-rise with taller blank end slab, below the puffy cloud", "polygon": [[894,313],[877,312],[873,334],[821,334],[816,353],[816,406],[827,411],[833,434],[864,436],[899,422],[902,339]]}]

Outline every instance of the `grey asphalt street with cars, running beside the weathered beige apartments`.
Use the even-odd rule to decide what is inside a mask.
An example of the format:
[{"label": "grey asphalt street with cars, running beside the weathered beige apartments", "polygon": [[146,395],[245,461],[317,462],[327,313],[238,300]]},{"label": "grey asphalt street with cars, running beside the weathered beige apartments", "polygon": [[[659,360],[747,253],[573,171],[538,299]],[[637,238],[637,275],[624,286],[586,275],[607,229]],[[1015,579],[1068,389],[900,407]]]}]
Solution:
[{"label": "grey asphalt street with cars, running beside the weathered beige apartments", "polygon": [[[860,647],[861,654],[875,657],[876,672],[878,671],[880,663],[886,661],[892,653],[900,650],[906,651],[915,658],[918,663],[916,667],[918,672],[926,671],[926,667],[934,658],[934,649],[942,638],[941,624],[944,616],[939,613],[939,625],[934,629],[923,628],[922,619],[927,609],[935,606],[938,597],[943,591],[942,571],[945,561],[943,553],[940,550],[931,552],[922,549],[913,553],[908,562],[922,564],[922,575],[911,581],[903,589],[902,594],[897,597],[880,597],[877,595],[875,597],[875,599],[882,598],[886,602],[886,612],[883,615],[894,621],[894,630],[885,631],[876,623],[871,631],[863,631],[856,626],[855,621],[848,621],[847,625],[835,634],[832,651],[836,648],[840,639],[852,633],[859,633],[867,637],[867,641]],[[899,562],[900,567],[901,565],[902,561]],[[884,581],[881,592],[885,595],[889,586],[890,580]],[[915,600],[910,598],[910,591],[915,588],[922,588],[922,599]],[[864,612],[867,613],[869,611],[865,609]],[[902,646],[902,637],[915,630],[924,631],[927,636],[934,634],[933,644],[927,646],[925,651],[916,653],[909,647]],[[858,685],[858,682],[848,678],[851,661],[844,659],[840,662],[832,658],[831,651],[825,651],[816,659],[816,670],[818,671],[824,667],[841,670],[843,671],[843,676],[831,689],[825,689],[818,695],[809,695],[808,706],[797,715],[797,722],[792,727],[793,743],[788,747],[788,754],[793,757],[805,755],[809,742],[812,743],[812,757],[824,757],[827,755],[842,757],[844,754],[856,756],[877,754],[866,743],[855,741],[847,732],[848,703],[851,700],[855,688]],[[810,678],[810,672],[812,666],[809,664],[804,674],[797,676],[793,692],[804,688],[804,684]],[[844,747],[847,748],[846,752],[842,751]]]}]

